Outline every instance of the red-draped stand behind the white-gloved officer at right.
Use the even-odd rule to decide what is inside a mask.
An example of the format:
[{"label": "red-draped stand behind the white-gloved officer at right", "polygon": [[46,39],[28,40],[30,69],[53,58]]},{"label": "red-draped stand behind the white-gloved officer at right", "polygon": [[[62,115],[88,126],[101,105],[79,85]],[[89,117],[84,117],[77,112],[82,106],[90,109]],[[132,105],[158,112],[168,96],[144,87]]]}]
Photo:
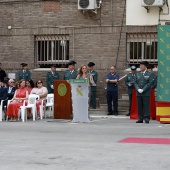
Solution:
[{"label": "red-draped stand behind the white-gloved officer at right", "polygon": [[[138,103],[137,103],[137,96],[136,96],[136,89],[132,91],[132,106],[131,106],[131,113],[130,119],[138,119]],[[156,119],[156,105],[155,105],[155,90],[150,90],[150,119]]]}]

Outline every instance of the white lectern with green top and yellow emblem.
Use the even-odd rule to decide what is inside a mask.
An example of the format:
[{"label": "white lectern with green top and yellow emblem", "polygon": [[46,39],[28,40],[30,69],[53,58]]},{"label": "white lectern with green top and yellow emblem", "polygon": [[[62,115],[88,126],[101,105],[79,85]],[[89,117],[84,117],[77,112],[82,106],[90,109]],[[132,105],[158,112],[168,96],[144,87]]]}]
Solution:
[{"label": "white lectern with green top and yellow emblem", "polygon": [[73,120],[72,122],[89,122],[89,81],[88,79],[71,79]]}]

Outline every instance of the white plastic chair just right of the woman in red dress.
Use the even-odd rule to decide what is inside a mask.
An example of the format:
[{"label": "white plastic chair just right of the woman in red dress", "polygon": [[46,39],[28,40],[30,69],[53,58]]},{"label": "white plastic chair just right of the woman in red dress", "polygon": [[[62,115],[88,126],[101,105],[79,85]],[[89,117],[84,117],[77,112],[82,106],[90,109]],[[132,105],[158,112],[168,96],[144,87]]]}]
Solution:
[{"label": "white plastic chair just right of the woman in red dress", "polygon": [[37,94],[30,94],[28,96],[28,103],[27,105],[21,106],[21,119],[24,122],[27,120],[27,112],[26,109],[31,108],[32,115],[33,115],[33,121],[35,121],[35,118],[37,116],[37,109],[36,109],[36,101],[40,99],[40,96]]}]

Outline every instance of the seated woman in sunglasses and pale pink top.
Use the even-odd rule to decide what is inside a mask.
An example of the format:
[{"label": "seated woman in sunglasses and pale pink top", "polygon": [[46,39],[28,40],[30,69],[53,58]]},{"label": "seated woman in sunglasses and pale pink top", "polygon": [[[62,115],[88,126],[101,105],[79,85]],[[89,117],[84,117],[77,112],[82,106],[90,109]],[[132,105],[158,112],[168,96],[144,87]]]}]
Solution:
[{"label": "seated woman in sunglasses and pale pink top", "polygon": [[37,107],[37,115],[38,118],[40,116],[40,105],[42,103],[42,100],[46,99],[48,90],[46,87],[43,86],[43,82],[41,80],[38,80],[35,83],[35,87],[32,89],[30,94],[38,94],[40,96],[40,100],[36,102],[36,107]]}]

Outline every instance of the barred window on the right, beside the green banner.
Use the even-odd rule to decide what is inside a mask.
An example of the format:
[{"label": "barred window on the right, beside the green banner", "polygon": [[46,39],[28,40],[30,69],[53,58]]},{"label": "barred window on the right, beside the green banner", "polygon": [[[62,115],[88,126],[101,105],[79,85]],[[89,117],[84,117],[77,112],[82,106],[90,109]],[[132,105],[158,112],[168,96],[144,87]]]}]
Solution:
[{"label": "barred window on the right, beside the green banner", "polygon": [[157,34],[127,34],[127,62],[139,64],[146,60],[157,64]]}]

